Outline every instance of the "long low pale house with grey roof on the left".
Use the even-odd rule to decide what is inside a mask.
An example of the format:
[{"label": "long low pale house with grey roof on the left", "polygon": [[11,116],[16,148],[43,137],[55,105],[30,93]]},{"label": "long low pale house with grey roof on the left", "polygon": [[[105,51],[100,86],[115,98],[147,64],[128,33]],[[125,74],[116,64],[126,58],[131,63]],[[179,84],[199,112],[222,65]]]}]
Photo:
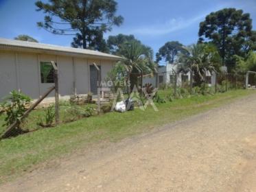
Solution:
[{"label": "long low pale house with grey roof on the left", "polygon": [[[59,71],[60,96],[97,92],[97,71],[104,80],[113,64],[120,60],[99,51],[0,38],[0,100],[12,90],[33,99],[54,85],[51,61]],[[51,93],[49,97],[52,97]]]}]

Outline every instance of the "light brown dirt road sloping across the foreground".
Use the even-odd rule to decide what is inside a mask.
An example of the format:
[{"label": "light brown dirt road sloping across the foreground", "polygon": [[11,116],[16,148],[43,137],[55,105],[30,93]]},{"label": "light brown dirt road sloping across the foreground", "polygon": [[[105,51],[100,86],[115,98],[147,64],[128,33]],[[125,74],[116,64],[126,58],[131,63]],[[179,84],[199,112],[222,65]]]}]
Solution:
[{"label": "light brown dirt road sloping across the foreground", "polygon": [[0,191],[256,191],[256,95],[80,152]]}]

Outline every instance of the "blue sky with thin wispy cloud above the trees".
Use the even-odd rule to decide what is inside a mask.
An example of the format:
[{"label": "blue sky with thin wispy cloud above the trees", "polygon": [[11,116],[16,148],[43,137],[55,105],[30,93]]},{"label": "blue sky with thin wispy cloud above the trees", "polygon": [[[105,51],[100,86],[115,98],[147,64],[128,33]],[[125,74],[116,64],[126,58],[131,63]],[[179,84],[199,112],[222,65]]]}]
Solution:
[{"label": "blue sky with thin wispy cloud above the trees", "polygon": [[[0,37],[14,38],[28,34],[40,43],[70,46],[71,36],[58,36],[38,29],[43,13],[36,12],[34,0],[0,0]],[[124,24],[105,34],[134,34],[144,44],[158,51],[165,42],[178,40],[184,45],[196,43],[198,26],[210,12],[222,8],[239,8],[251,14],[256,29],[255,0],[119,0],[118,14]]]}]

